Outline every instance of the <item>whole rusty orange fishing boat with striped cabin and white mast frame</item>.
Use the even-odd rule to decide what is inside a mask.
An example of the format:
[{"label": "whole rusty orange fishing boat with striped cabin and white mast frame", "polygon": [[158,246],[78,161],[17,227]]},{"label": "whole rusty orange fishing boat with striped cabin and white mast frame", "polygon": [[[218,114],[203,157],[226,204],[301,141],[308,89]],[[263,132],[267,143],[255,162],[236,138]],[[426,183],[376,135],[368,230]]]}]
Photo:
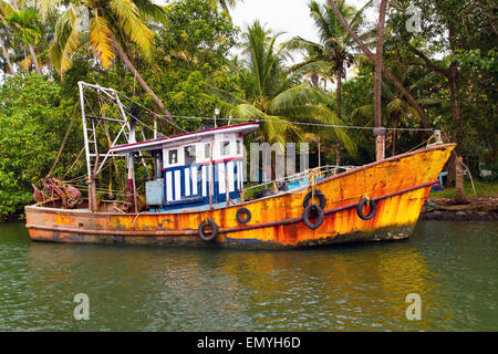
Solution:
[{"label": "whole rusty orange fishing boat with striped cabin and white mast frame", "polygon": [[[214,248],[302,248],[320,244],[400,240],[409,237],[422,206],[455,144],[435,143],[359,167],[323,166],[267,183],[252,199],[245,186],[243,138],[260,122],[246,122],[146,139],[142,122],[125,110],[120,94],[80,85],[87,198],[50,180],[25,207],[34,241],[125,243]],[[89,115],[85,90],[117,104],[122,119]],[[121,129],[100,154],[97,129]],[[124,142],[124,143],[123,143]],[[145,198],[135,186],[135,164],[147,166]],[[129,194],[125,200],[97,198],[97,176],[114,158],[125,158]],[[151,164],[149,164],[151,165]],[[37,199],[38,196],[38,199]],[[79,200],[80,199],[80,200]]]}]

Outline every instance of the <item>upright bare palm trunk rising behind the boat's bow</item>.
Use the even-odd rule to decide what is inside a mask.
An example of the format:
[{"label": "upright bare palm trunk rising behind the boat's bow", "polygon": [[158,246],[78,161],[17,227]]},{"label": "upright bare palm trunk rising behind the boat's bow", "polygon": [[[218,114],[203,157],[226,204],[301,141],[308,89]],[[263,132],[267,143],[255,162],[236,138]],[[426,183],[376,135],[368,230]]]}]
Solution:
[{"label": "upright bare palm trunk rising behind the boat's bow", "polygon": [[[377,39],[375,49],[375,82],[374,82],[374,106],[375,127],[382,127],[382,54],[384,51],[384,25],[387,0],[381,1],[378,10]],[[385,157],[385,133],[376,132],[375,150],[377,162]]]}]

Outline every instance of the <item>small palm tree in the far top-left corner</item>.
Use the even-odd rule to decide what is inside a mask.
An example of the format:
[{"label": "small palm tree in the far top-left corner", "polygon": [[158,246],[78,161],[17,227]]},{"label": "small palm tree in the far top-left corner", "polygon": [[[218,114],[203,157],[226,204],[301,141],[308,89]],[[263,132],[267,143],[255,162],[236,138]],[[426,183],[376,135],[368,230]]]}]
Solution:
[{"label": "small palm tree in the far top-left corner", "polygon": [[12,4],[7,1],[0,1],[0,20],[4,25],[12,29],[14,37],[21,40],[24,52],[23,66],[25,70],[28,71],[28,56],[25,53],[28,49],[34,70],[41,76],[40,64],[33,50],[33,45],[41,37],[38,12],[31,8],[20,10],[15,1]]}]

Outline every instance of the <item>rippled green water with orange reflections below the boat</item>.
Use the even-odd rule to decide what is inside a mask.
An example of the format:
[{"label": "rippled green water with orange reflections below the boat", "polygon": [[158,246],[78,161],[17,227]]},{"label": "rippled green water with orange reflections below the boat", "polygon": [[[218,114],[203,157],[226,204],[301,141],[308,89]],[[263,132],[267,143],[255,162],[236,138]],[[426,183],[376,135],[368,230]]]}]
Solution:
[{"label": "rippled green water with orange reflections below the boat", "polygon": [[241,251],[38,243],[0,225],[0,331],[497,331],[497,230],[421,221],[406,241]]}]

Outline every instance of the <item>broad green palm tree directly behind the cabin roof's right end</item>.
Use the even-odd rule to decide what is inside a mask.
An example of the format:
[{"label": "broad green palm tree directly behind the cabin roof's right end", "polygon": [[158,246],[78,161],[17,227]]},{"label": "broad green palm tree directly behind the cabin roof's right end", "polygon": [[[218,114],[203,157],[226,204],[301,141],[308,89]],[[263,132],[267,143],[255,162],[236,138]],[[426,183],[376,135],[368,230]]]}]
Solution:
[{"label": "broad green palm tree directly behind the cabin roof's right end", "polygon": [[[288,52],[283,46],[277,48],[278,37],[259,21],[255,21],[243,33],[242,54],[246,59],[239,62],[241,67],[232,65],[240,77],[242,92],[234,95],[214,88],[222,100],[221,115],[261,119],[263,137],[269,143],[283,144],[291,136],[304,138],[305,133],[295,124],[299,123],[297,119],[341,125],[335,113],[326,107],[331,102],[324,91],[307,83],[300,84],[300,75],[286,72],[283,64]],[[334,127],[333,132],[350,152],[354,152],[354,143],[342,128]]]}]

